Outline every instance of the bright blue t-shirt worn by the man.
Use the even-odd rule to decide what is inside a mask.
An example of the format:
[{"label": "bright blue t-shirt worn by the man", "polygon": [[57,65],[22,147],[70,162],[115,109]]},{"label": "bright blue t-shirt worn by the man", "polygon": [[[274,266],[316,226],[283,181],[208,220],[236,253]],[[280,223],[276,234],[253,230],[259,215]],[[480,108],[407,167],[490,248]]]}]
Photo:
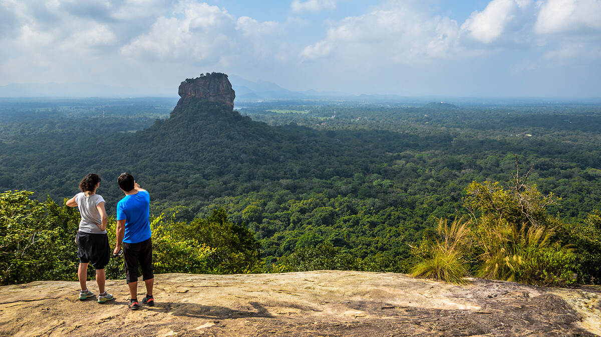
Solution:
[{"label": "bright blue t-shirt worn by the man", "polygon": [[117,220],[125,221],[124,243],[141,243],[150,239],[150,194],[139,191],[117,203]]}]

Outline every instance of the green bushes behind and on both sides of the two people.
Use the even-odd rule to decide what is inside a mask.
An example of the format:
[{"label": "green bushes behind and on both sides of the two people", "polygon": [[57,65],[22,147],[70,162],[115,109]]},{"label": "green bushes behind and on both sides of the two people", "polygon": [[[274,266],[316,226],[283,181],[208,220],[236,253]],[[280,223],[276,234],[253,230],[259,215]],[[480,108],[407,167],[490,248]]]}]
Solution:
[{"label": "green bushes behind and on both sides of the two people", "polygon": [[[79,213],[52,199],[29,199],[29,191],[0,193],[0,285],[35,280],[77,280],[75,233]],[[114,218],[107,233],[115,246]],[[223,209],[192,223],[157,217],[151,220],[156,273],[258,273],[263,268],[254,233],[231,223]],[[123,279],[123,259],[112,258],[108,279]],[[94,268],[88,268],[94,278]]]}]

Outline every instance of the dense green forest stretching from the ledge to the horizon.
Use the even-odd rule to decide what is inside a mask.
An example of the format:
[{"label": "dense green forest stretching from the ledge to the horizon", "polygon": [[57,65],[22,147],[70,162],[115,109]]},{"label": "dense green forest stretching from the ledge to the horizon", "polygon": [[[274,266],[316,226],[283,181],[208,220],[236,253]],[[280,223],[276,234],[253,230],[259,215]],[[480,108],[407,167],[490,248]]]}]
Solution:
[{"label": "dense green forest stretching from the ledge to the horizon", "polygon": [[[174,103],[0,102],[0,191],[59,207],[95,172],[114,214],[116,178],[130,172],[150,191],[157,229],[178,228],[167,241],[213,217],[257,252],[237,255],[243,270],[213,271],[257,271],[248,261],[259,259],[263,270],[313,268],[299,266],[316,261],[316,247],[331,257],[322,267],[407,271],[427,255],[416,248],[423,238],[440,237],[440,218],[486,215],[468,207],[472,182],[498,182],[501,193],[519,165],[528,186],[557,198],[545,204],[561,223],[554,242],[599,249],[575,233],[599,227],[601,105],[288,100],[228,111],[191,100],[170,114]],[[599,282],[598,270],[587,273],[581,281]]]}]

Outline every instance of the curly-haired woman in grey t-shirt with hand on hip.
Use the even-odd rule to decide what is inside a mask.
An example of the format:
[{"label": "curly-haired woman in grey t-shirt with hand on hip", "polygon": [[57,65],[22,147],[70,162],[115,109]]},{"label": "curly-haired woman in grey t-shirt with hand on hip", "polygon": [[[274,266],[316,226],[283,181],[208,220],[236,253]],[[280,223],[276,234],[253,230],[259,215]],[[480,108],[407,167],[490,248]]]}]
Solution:
[{"label": "curly-haired woman in grey t-shirt with hand on hip", "polygon": [[67,201],[67,206],[78,207],[81,214],[79,231],[75,237],[78,244],[77,255],[79,258],[78,278],[81,285],[79,299],[85,300],[94,294],[88,290],[88,264],[96,269],[96,283],[100,295],[98,303],[112,300],[113,295],[105,291],[106,274],[105,267],[111,258],[111,247],[106,235],[106,209],[105,199],[96,190],[100,186],[100,177],[95,173],[85,176],[79,183],[81,193]]}]

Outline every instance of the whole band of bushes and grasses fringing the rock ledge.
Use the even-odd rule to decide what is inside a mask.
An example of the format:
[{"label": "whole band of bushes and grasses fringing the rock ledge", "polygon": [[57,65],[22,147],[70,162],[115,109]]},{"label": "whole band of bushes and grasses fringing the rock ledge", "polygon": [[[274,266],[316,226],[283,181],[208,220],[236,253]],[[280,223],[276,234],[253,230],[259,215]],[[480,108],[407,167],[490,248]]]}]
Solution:
[{"label": "whole band of bushes and grasses fringing the rock ledge", "polygon": [[[536,285],[570,285],[574,271],[586,282],[599,282],[601,215],[592,212],[587,224],[567,226],[546,214],[552,196],[516,179],[505,190],[496,183],[472,182],[465,205],[474,220],[439,218],[438,238],[423,240],[412,249],[415,276],[465,282],[469,270],[492,279]],[[30,200],[31,192],[0,194],[0,284],[33,280],[76,280],[77,257],[73,235],[78,228],[75,209]],[[157,217],[153,229],[156,273],[259,273],[264,270],[255,234],[228,220],[223,209],[187,223]],[[115,220],[109,219],[114,246]],[[407,261],[374,255],[363,259],[330,241],[308,233],[293,253],[266,270],[273,273],[311,270],[360,270],[407,273]],[[319,239],[319,238],[318,238]],[[560,239],[573,243],[561,246]],[[307,241],[307,242],[305,242]],[[578,254],[576,259],[575,253]],[[577,261],[578,260],[578,261]],[[40,261],[44,261],[40,263]],[[122,279],[123,262],[111,259],[109,279]],[[93,277],[93,268],[89,275]]]}]

